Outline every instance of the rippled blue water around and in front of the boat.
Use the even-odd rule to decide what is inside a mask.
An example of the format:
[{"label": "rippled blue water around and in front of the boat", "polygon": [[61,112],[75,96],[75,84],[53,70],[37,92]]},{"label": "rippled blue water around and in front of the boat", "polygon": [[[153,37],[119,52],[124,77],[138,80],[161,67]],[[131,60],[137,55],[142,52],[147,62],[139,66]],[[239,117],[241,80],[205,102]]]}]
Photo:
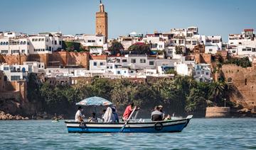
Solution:
[{"label": "rippled blue water around and in front of the boat", "polygon": [[64,122],[0,121],[0,149],[256,149],[256,118],[192,119],[179,133],[73,134]]}]

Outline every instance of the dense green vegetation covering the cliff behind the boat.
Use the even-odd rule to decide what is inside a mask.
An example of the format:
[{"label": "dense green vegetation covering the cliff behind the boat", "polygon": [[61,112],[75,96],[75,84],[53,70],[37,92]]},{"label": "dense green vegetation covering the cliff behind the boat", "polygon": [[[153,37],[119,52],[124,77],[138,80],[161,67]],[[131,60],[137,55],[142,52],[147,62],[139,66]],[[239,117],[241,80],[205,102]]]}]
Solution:
[{"label": "dense green vegetation covering the cliff behind the boat", "polygon": [[[29,82],[34,82],[30,80]],[[129,79],[92,79],[80,81],[74,86],[50,85],[45,82],[34,84],[29,99],[42,103],[48,113],[71,114],[75,103],[90,96],[100,96],[112,101],[119,111],[133,101],[140,105],[143,113],[150,113],[155,105],[164,105],[166,113],[185,115],[205,112],[208,102],[223,106],[225,83],[198,83],[191,77],[178,76],[176,79],[157,79],[145,83],[134,83]]]}]

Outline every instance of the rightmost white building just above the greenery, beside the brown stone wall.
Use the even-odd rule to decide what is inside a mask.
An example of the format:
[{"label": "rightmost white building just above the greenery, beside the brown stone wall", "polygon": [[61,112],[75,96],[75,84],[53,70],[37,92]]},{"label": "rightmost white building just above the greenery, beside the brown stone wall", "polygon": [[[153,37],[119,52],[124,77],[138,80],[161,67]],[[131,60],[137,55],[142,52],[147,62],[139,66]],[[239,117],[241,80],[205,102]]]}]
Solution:
[{"label": "rightmost white building just above the greenery, beside the brown stone wall", "polygon": [[210,77],[210,72],[210,64],[196,64],[193,78],[200,82],[210,82],[213,80]]}]

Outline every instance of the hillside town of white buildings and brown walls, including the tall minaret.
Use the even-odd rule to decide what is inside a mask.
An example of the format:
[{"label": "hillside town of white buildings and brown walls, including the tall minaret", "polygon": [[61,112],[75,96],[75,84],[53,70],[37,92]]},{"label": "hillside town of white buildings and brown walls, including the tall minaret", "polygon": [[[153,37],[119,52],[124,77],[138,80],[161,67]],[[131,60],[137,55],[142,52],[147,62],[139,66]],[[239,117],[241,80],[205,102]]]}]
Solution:
[{"label": "hillside town of white buildings and brown walls, including the tall minaret", "polygon": [[[196,26],[162,33],[131,31],[110,39],[107,21],[100,3],[92,35],[0,32],[0,98],[26,100],[29,74],[51,85],[75,85],[93,77],[136,80],[191,76],[198,82],[222,79],[235,85],[244,99],[242,105],[255,111],[254,29],[230,33],[228,42],[223,42],[222,35],[201,35]],[[232,61],[240,59],[249,64]]]}]

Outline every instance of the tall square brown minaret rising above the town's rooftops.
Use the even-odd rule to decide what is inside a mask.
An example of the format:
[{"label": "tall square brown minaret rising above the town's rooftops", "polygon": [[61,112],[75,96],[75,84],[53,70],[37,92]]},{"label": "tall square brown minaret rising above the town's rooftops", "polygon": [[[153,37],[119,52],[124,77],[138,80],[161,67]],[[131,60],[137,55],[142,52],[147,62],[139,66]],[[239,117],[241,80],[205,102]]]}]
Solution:
[{"label": "tall square brown minaret rising above the town's rooftops", "polygon": [[101,0],[99,11],[96,12],[96,35],[105,35],[107,42],[107,13]]}]

